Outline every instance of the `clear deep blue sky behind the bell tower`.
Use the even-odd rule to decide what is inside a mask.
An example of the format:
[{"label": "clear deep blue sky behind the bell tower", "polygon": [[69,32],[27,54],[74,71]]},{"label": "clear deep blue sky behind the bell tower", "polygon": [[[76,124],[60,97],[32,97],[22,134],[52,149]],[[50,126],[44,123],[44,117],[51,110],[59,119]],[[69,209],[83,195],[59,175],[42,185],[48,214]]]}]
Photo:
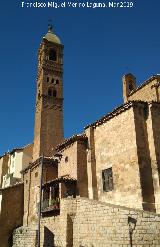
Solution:
[{"label": "clear deep blue sky behind the bell tower", "polygon": [[65,137],[123,103],[123,74],[132,72],[139,84],[160,73],[160,1],[133,2],[133,8],[105,9],[1,2],[0,154],[33,141],[37,49],[48,19],[65,46]]}]

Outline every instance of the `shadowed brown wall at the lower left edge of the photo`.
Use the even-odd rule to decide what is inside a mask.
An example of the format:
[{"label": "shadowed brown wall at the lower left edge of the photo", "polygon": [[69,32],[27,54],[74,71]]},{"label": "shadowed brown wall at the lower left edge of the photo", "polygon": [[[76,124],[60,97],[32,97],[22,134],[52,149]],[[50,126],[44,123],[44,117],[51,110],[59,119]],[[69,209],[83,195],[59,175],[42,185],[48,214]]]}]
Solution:
[{"label": "shadowed brown wall at the lower left edge of the photo", "polygon": [[23,224],[23,184],[1,190],[0,246],[10,247],[12,232]]}]

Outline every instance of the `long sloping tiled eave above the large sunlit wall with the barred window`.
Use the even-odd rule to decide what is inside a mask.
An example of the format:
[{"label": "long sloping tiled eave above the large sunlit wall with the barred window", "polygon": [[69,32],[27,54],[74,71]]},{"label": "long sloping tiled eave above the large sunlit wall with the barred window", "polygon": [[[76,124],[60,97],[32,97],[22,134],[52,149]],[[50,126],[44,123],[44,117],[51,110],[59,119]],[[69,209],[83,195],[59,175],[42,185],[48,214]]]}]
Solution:
[{"label": "long sloping tiled eave above the large sunlit wall with the barred window", "polygon": [[112,112],[110,112],[107,115],[103,116],[102,118],[100,118],[99,120],[95,121],[94,123],[87,125],[85,127],[85,129],[87,129],[88,127],[96,128],[97,126],[109,121],[111,118],[114,118],[115,116],[121,114],[122,112],[124,112],[124,111],[126,111],[128,109],[130,109],[131,107],[133,107],[134,105],[137,105],[138,103],[146,104],[146,102],[141,101],[141,100],[129,101],[129,102],[123,104],[123,105],[118,106]]}]

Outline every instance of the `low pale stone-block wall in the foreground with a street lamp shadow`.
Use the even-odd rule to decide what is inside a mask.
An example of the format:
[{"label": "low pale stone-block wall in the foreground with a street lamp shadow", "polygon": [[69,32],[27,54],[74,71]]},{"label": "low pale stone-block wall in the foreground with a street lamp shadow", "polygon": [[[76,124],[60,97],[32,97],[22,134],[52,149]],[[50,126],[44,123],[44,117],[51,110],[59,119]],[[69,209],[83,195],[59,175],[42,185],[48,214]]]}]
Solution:
[{"label": "low pale stone-block wall in the foreground with a street lamp shadow", "polygon": [[62,199],[60,216],[42,219],[41,240],[44,247],[158,247],[160,215],[84,198]]}]

